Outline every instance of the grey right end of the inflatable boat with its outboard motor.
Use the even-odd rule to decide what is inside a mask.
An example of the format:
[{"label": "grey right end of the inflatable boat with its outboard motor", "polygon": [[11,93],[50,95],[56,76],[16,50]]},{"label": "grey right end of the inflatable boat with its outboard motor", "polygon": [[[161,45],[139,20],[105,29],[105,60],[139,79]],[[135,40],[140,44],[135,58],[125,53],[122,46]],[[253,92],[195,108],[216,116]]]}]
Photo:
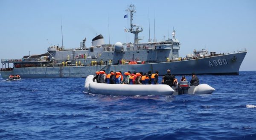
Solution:
[{"label": "grey right end of the inflatable boat with its outboard motor", "polygon": [[181,95],[181,94],[211,94],[215,91],[214,88],[209,86],[208,84],[199,84],[198,86],[189,86],[188,81],[180,81],[178,83],[178,87],[172,87],[175,92],[173,95]]}]

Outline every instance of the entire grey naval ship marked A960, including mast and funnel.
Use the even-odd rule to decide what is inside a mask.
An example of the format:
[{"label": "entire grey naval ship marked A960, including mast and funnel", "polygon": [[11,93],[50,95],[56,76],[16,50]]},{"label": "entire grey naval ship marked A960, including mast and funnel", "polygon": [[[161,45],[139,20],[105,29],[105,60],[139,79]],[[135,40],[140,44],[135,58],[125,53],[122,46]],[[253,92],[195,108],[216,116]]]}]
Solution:
[{"label": "entire grey naval ship marked A960, including mast and funnel", "polygon": [[[143,31],[133,24],[135,8],[128,6],[131,27],[126,31],[134,34],[134,43],[116,42],[104,44],[100,34],[92,39],[90,47],[85,46],[86,38],[78,48],[50,46],[47,53],[23,56],[22,59],[2,59],[0,73],[3,78],[20,75],[21,78],[62,78],[86,77],[96,71],[137,71],[146,73],[151,70],[166,74],[170,69],[174,75],[196,74],[239,74],[239,67],[247,53],[246,50],[234,53],[208,52],[205,49],[194,50],[194,54],[179,56],[180,42],[175,38],[161,42],[139,43],[138,34]],[[9,63],[13,67],[9,67]]]}]

